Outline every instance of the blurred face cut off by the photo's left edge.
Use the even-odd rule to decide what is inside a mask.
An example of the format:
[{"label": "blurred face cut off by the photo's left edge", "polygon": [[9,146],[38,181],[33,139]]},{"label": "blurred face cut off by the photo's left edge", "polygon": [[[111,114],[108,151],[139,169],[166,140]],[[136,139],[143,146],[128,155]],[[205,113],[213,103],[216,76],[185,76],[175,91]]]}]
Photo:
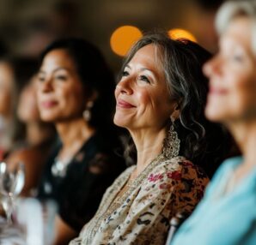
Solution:
[{"label": "blurred face cut off by the photo's left edge", "polygon": [[12,91],[14,86],[13,70],[8,63],[0,62],[0,114],[11,115]]}]

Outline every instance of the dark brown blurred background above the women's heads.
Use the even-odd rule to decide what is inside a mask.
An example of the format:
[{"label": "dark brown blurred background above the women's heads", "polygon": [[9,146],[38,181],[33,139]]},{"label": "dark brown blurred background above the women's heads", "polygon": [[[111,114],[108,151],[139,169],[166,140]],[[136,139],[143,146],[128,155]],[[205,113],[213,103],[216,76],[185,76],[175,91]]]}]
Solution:
[{"label": "dark brown blurred background above the women's heads", "polygon": [[[222,0],[0,0],[0,39],[15,55],[36,57],[52,40],[77,36],[105,54],[114,72],[122,57],[111,48],[125,25],[141,32],[182,28],[215,52],[214,16]],[[128,35],[129,36],[129,35]]]}]

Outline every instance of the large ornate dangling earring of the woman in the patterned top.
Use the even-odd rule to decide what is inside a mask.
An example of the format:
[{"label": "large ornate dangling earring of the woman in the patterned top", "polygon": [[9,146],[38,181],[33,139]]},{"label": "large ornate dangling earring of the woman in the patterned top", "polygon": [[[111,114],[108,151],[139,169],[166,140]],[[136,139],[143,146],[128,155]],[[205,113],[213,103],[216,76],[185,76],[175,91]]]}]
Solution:
[{"label": "large ornate dangling earring of the woman in the patterned top", "polygon": [[180,139],[174,130],[174,118],[171,117],[171,125],[167,129],[167,136],[163,140],[162,152],[166,158],[175,158],[180,152]]}]

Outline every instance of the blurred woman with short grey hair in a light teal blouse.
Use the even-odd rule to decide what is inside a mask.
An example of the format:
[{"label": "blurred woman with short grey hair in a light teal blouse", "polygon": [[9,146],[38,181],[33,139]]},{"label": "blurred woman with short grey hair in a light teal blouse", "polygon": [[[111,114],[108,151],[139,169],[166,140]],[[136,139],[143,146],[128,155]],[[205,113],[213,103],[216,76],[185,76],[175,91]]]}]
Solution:
[{"label": "blurred woman with short grey hair in a light teal blouse", "polygon": [[204,65],[210,78],[205,114],[229,128],[243,156],[217,170],[172,245],[256,244],[256,1],[223,3],[216,29],[220,51]]}]

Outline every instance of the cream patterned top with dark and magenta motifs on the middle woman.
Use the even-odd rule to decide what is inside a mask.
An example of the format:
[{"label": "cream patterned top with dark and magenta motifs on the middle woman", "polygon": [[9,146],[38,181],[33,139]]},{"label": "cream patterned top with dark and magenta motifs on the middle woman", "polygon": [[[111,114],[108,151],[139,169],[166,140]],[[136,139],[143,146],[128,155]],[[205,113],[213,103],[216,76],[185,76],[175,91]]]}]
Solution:
[{"label": "cream patterned top with dark and magenta motifs on the middle woman", "polygon": [[[129,183],[134,169],[125,170],[107,188],[94,218],[70,245],[164,244],[170,219],[177,212],[192,212],[208,182],[204,172],[183,157],[161,154]],[[119,195],[125,185],[127,191]]]}]

